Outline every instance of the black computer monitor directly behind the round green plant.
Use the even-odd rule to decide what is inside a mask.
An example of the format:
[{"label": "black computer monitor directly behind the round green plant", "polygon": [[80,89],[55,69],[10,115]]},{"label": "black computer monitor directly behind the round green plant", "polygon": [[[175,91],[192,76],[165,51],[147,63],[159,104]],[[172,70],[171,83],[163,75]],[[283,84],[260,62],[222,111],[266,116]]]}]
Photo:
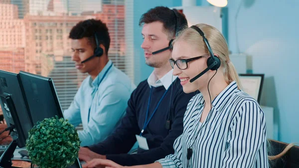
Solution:
[{"label": "black computer monitor directly behind the round green plant", "polygon": [[[33,124],[55,116],[64,118],[51,78],[24,71],[20,71],[19,74]],[[81,168],[79,160],[69,168]]]}]

